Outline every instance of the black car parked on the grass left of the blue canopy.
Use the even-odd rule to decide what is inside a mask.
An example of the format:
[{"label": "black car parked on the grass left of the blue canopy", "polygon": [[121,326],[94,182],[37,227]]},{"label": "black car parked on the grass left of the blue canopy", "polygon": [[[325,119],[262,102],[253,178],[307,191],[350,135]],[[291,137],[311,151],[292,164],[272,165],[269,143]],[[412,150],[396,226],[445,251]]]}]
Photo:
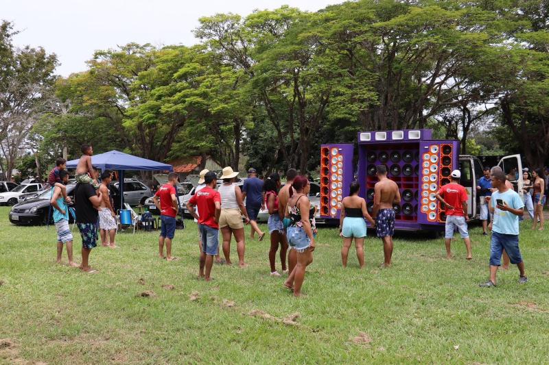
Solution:
[{"label": "black car parked on the grass left of the blue canopy", "polygon": [[[75,184],[67,185],[67,195],[71,199],[73,199],[75,186]],[[50,200],[51,189],[47,189],[34,199],[27,199],[23,203],[14,205],[9,213],[10,222],[14,225],[46,225],[49,217],[49,223],[53,224],[54,207],[50,207]],[[70,214],[69,223],[73,223],[73,218]]]}]

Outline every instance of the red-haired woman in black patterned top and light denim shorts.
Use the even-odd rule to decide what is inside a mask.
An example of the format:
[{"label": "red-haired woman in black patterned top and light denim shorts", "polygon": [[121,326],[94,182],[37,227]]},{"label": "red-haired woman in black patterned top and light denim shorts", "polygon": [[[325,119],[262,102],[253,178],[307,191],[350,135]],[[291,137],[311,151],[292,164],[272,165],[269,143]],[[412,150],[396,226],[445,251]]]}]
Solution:
[{"label": "red-haired woman in black patterned top and light denim shorts", "polygon": [[313,251],[315,247],[314,234],[316,227],[314,221],[314,208],[311,209],[309,201],[309,180],[305,176],[297,176],[290,189],[288,210],[285,216],[290,218],[288,225],[288,243],[290,249],[297,253],[297,264],[292,273],[286,279],[284,286],[294,290],[294,296],[301,295],[301,286],[305,279],[305,268],[313,262]]}]

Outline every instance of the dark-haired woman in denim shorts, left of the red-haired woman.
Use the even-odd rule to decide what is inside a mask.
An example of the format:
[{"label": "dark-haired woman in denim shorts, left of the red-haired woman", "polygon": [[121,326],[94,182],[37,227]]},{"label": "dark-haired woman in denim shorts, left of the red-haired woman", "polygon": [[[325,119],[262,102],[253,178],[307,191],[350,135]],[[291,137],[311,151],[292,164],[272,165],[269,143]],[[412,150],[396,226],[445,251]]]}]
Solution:
[{"label": "dark-haired woman in denim shorts, left of the red-haired woman", "polygon": [[278,191],[280,190],[280,176],[277,173],[270,175],[263,185],[263,191],[265,192],[265,206],[269,211],[269,221],[267,226],[270,234],[270,249],[269,249],[269,263],[270,263],[270,275],[280,276],[280,273],[275,268],[274,262],[277,258],[277,251],[280,249],[280,262],[282,264],[282,273],[288,273],[286,269],[286,251],[288,251],[288,240],[284,232],[284,225],[279,216],[279,197]]}]

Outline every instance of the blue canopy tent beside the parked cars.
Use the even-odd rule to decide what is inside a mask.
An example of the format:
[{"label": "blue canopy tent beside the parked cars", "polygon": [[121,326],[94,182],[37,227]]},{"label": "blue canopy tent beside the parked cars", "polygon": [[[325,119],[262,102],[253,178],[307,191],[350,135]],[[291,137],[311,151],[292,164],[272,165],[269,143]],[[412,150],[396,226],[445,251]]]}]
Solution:
[{"label": "blue canopy tent beside the parked cars", "polygon": [[[163,164],[146,158],[140,158],[134,155],[120,151],[109,151],[91,156],[91,164],[97,168],[105,170],[118,171],[120,206],[124,207],[124,171],[174,171],[172,165]],[[78,160],[67,161],[67,168],[76,168]]]}]

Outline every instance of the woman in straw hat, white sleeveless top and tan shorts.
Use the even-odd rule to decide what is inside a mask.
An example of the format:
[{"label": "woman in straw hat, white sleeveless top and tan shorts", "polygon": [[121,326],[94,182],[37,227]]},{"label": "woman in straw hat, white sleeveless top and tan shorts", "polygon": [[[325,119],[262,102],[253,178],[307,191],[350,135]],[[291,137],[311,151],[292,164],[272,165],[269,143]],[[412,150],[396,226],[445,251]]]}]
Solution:
[{"label": "woman in straw hat, white sleeveless top and tan shorts", "polygon": [[242,191],[240,187],[234,184],[238,172],[233,168],[223,169],[221,179],[223,184],[218,188],[221,196],[221,215],[219,217],[219,227],[223,236],[223,254],[227,265],[231,265],[231,234],[235,236],[236,250],[238,253],[238,266],[248,266],[244,263],[244,224],[242,216],[246,217],[246,224],[250,222],[248,213],[242,201]]}]

